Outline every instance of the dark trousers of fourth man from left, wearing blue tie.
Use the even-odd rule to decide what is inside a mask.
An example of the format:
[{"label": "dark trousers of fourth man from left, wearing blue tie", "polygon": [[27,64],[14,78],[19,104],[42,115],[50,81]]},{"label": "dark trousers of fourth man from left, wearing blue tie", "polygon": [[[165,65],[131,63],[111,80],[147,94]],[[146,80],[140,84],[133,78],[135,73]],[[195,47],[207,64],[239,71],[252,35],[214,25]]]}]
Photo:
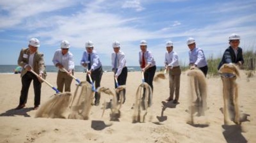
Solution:
[{"label": "dark trousers of fourth man from left, wearing blue tie", "polygon": [[[116,70],[117,71],[117,70]],[[126,79],[127,79],[127,67],[124,67],[122,69],[121,74],[117,77],[117,83],[119,86],[125,85],[126,84]],[[115,79],[114,79],[115,80]],[[114,82],[115,83],[115,82]],[[117,88],[116,84],[115,84],[115,88]],[[124,100],[125,100],[125,89],[122,90],[123,95],[124,95]],[[116,93],[117,95],[117,101],[119,101],[120,99],[120,93]]]}]

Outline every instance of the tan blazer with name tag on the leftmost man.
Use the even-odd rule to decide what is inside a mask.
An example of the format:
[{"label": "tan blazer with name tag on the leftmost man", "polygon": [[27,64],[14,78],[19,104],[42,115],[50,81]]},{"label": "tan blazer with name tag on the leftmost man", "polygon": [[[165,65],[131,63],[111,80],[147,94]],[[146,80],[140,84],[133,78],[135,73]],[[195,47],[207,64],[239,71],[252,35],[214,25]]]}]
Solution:
[{"label": "tan blazer with name tag on the leftmost man", "polygon": [[[27,56],[26,56],[27,55]],[[29,62],[29,48],[23,48],[20,51],[20,56],[18,59],[18,65],[22,67],[21,71],[21,77],[27,73],[27,70],[24,69],[24,66],[28,64]],[[43,58],[43,53],[39,53],[38,51],[35,52],[34,60],[33,60],[33,71],[35,71],[37,74],[39,72],[45,73],[45,61]]]}]

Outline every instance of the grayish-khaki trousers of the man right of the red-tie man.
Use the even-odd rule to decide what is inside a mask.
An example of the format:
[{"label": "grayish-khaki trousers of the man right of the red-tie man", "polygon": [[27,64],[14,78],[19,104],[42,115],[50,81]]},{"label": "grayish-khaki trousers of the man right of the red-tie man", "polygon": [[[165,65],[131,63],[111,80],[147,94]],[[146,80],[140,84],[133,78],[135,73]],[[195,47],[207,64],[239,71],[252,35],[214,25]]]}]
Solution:
[{"label": "grayish-khaki trousers of the man right of the red-tie man", "polygon": [[181,69],[180,66],[173,67],[173,69],[169,69],[169,88],[170,88],[170,99],[175,99],[178,101],[180,96],[180,74]]}]

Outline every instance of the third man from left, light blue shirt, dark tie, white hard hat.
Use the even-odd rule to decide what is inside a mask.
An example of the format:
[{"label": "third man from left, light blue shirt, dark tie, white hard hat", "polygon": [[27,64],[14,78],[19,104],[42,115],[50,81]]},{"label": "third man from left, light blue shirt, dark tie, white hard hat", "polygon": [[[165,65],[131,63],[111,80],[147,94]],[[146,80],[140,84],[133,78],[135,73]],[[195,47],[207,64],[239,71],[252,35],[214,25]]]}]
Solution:
[{"label": "third man from left, light blue shirt, dark tie, white hard hat", "polygon": [[[102,79],[102,63],[97,51],[94,50],[94,44],[92,41],[85,43],[86,50],[84,51],[81,59],[81,65],[88,68],[86,80],[90,82],[88,74],[92,77],[92,82],[95,81],[95,88],[100,87],[100,81]],[[100,104],[100,93],[95,92],[95,103],[98,106]]]}]

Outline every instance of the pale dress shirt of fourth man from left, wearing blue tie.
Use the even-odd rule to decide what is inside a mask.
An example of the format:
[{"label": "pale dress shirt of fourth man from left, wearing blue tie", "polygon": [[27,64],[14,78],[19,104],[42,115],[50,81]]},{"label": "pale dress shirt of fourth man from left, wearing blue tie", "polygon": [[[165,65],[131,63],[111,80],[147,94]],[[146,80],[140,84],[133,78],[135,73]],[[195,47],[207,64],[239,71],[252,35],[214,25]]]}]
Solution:
[{"label": "pale dress shirt of fourth man from left, wearing blue tie", "polygon": [[[115,52],[111,53],[111,65],[112,68],[114,68],[115,65]],[[119,76],[123,70],[124,67],[127,67],[126,65],[126,59],[125,59],[125,53],[119,50],[117,53],[117,72],[116,76]]]}]

